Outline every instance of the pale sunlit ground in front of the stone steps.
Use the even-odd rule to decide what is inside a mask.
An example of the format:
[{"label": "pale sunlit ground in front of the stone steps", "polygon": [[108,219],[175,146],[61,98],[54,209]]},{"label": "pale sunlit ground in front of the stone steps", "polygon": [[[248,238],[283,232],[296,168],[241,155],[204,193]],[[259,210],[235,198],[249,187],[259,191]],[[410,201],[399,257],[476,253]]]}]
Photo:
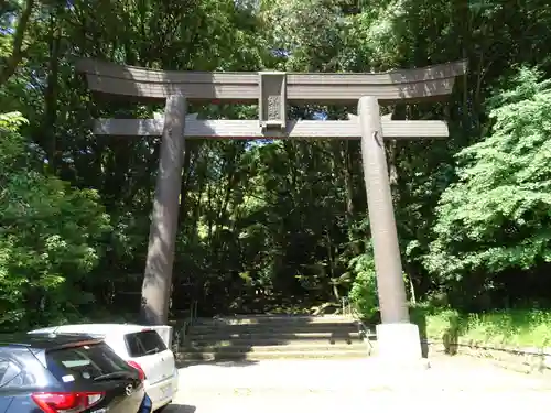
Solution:
[{"label": "pale sunlit ground in front of the stone steps", "polygon": [[389,369],[376,359],[204,363],[180,370],[165,413],[551,411],[551,382],[462,357]]}]

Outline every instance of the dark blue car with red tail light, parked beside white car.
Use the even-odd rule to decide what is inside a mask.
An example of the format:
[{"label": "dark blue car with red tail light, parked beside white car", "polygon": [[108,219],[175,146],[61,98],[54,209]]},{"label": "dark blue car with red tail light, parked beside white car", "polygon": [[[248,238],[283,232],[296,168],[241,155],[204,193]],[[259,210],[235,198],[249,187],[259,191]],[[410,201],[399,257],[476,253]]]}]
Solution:
[{"label": "dark blue car with red tail light, parked beside white car", "polygon": [[85,335],[0,335],[0,413],[137,413],[139,372]]}]

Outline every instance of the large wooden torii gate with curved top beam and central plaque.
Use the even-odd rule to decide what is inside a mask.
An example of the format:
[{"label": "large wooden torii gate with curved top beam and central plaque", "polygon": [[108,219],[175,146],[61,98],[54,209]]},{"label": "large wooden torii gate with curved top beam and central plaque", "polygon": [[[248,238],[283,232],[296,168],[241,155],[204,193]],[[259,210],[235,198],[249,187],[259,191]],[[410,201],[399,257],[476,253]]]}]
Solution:
[{"label": "large wooden torii gate with curved top beam and central plaque", "polygon": [[[381,324],[380,356],[421,357],[418,327],[410,323],[382,138],[445,138],[447,126],[434,120],[380,117],[379,104],[439,100],[450,95],[467,62],[380,74],[199,73],[153,70],[82,59],[96,94],[164,101],[164,119],[99,119],[95,134],[162,137],[159,175],[142,289],[142,314],[149,324],[168,322],[185,138],[361,139],[361,159]],[[197,120],[187,101],[258,102],[258,120]],[[345,121],[287,119],[287,105],[358,102],[358,116]]]}]

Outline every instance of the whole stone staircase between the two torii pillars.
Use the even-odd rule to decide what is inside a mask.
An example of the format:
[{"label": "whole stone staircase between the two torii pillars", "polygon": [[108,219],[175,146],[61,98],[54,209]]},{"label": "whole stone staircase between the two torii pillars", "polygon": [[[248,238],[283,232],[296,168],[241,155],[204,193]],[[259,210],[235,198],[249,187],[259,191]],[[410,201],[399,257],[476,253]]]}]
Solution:
[{"label": "whole stone staircase between the two torii pillars", "polygon": [[369,344],[345,316],[241,315],[198,318],[179,358],[192,360],[364,358]]}]

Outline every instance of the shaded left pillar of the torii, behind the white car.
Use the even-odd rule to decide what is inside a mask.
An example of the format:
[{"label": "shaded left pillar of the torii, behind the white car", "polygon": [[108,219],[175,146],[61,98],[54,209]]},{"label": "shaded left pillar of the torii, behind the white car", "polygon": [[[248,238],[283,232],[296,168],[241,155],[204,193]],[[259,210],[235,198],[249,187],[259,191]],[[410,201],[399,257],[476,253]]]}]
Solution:
[{"label": "shaded left pillar of the torii, behind the white car", "polygon": [[166,324],[177,233],[180,187],[184,162],[186,99],[166,98],[155,197],[142,285],[141,318],[147,325]]}]

